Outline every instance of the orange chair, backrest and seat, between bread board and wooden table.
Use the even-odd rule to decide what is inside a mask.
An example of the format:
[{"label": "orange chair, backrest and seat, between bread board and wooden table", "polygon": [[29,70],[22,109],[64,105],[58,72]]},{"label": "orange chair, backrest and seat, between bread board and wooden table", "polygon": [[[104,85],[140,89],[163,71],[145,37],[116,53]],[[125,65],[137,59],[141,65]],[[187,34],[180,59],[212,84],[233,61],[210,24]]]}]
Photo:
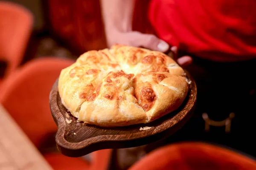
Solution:
[{"label": "orange chair, backrest and seat, between bread board and wooden table", "polygon": [[[57,130],[49,108],[49,93],[61,69],[73,62],[52,57],[33,59],[3,81],[0,103],[36,147]],[[93,152],[91,162],[61,153],[46,153],[44,157],[55,170],[106,170],[110,155],[111,150]]]}]

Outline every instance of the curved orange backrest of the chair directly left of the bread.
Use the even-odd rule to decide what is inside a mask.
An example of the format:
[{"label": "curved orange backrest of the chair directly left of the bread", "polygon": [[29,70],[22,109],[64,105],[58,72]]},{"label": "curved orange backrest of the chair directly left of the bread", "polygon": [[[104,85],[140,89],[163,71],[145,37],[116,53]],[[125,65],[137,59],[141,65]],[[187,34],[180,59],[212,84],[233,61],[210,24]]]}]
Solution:
[{"label": "curved orange backrest of the chair directly left of the bread", "polygon": [[57,131],[49,108],[49,93],[61,70],[74,60],[53,57],[27,62],[7,77],[0,88],[0,103],[36,147]]}]

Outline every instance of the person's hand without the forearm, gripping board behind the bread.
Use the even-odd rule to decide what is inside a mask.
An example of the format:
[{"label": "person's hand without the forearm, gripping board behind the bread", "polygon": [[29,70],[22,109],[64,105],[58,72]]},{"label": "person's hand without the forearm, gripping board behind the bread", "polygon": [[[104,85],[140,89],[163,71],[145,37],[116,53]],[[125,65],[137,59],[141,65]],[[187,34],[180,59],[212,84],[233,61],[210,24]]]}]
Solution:
[{"label": "person's hand without the forearm, gripping board behind the bread", "polygon": [[142,34],[138,31],[119,32],[113,29],[111,32],[106,34],[106,38],[108,47],[114,44],[122,44],[134,47],[148,48],[163,53],[171,48],[171,51],[174,53],[174,59],[178,62],[179,65],[185,67],[192,63],[192,58],[189,56],[177,58],[176,46],[170,47],[168,43],[160,40],[158,37],[152,34]]}]

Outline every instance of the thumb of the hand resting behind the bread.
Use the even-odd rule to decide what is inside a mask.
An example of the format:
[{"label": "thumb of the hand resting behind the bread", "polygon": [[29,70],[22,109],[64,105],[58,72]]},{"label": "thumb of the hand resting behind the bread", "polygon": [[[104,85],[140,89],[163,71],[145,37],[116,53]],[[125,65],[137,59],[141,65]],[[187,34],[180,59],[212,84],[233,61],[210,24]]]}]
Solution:
[{"label": "thumb of the hand resting behind the bread", "polygon": [[169,45],[163,40],[152,34],[142,34],[138,31],[129,33],[128,39],[130,45],[136,47],[144,47],[155,51],[166,52],[169,50]]}]

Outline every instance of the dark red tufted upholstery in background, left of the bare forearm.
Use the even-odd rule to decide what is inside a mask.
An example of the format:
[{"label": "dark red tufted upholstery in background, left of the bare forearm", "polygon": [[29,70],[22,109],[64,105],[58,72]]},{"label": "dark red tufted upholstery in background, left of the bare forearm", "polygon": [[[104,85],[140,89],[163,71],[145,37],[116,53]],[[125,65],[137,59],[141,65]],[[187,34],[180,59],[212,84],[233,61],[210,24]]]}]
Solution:
[{"label": "dark red tufted upholstery in background, left of the bare forearm", "polygon": [[77,53],[105,48],[99,0],[47,0],[52,31]]}]

